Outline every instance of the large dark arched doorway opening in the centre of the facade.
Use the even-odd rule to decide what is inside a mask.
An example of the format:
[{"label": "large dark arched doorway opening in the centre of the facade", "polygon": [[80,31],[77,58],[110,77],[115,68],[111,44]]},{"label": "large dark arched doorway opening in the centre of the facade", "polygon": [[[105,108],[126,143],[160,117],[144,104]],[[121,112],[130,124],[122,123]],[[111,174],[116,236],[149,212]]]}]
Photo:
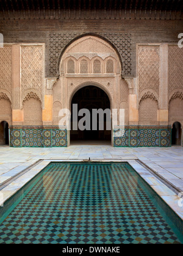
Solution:
[{"label": "large dark arched doorway opening in the centre of the facade", "polygon": [[[73,130],[73,104],[77,104],[77,113],[81,109],[88,109],[90,112],[90,130],[80,130],[77,128],[77,130]],[[74,105],[76,106],[76,105]],[[75,107],[74,107],[75,108]],[[106,129],[106,119],[107,115],[104,114],[104,129],[99,129],[99,118],[97,118],[97,128],[96,130],[92,129],[93,126],[93,119],[92,119],[92,113],[93,109],[102,109],[105,111],[106,109],[110,111],[110,100],[107,96],[106,92],[104,90],[96,87],[96,86],[85,86],[81,89],[77,90],[77,92],[74,94],[73,99],[71,101],[71,133],[70,133],[70,141],[105,141],[109,142],[111,140],[111,129]],[[77,116],[77,124],[79,123],[79,120],[82,119],[83,116],[79,117]],[[109,115],[108,115],[109,117]],[[108,119],[109,120],[109,119]],[[75,122],[76,123],[76,122]],[[95,127],[96,127],[95,126]],[[108,126],[109,127],[109,126]],[[111,126],[110,126],[111,128]]]}]

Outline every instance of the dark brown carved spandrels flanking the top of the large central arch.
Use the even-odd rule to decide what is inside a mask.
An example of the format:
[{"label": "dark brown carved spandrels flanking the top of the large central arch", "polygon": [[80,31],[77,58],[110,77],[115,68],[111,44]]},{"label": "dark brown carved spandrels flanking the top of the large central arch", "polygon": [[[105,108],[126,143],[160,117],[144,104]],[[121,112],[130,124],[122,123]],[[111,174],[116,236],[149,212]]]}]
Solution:
[{"label": "dark brown carved spandrels flanking the top of the large central arch", "polygon": [[[49,34],[49,47],[46,54],[49,59],[46,66],[46,76],[59,77],[59,63],[67,46],[87,32],[54,32]],[[132,40],[129,33],[99,32],[98,35],[117,49],[120,57],[122,74],[132,75]]]}]

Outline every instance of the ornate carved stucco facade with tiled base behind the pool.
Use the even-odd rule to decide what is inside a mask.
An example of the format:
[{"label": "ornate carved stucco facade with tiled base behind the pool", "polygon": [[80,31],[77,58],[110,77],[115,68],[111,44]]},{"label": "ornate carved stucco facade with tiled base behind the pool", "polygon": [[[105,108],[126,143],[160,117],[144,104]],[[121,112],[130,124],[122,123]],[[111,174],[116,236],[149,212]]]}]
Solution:
[{"label": "ornate carved stucco facade with tiled base behind the pool", "polygon": [[[181,1],[0,5],[1,145],[66,147],[74,139],[109,140],[113,147],[182,145]],[[71,111],[73,103],[117,109],[117,123],[92,134],[60,127],[60,109]]]}]

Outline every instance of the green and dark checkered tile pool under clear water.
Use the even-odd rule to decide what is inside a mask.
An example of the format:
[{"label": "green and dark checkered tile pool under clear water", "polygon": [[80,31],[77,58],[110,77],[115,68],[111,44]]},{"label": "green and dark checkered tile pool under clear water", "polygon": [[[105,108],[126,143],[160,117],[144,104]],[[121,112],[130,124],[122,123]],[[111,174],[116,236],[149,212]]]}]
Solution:
[{"label": "green and dark checkered tile pool under clear water", "polygon": [[51,163],[19,194],[0,243],[183,243],[127,163]]}]

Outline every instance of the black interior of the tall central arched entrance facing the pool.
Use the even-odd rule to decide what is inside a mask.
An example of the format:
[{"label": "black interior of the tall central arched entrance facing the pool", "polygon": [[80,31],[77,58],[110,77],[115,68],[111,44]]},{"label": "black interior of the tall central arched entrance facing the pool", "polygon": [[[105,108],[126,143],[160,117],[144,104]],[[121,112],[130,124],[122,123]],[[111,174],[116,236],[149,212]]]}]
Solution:
[{"label": "black interior of the tall central arched entrance facing the pool", "polygon": [[[77,116],[74,114],[76,108]],[[82,109],[85,110],[82,111]],[[71,144],[73,142],[110,144],[111,124],[109,119],[110,100],[104,90],[96,86],[85,86],[77,90],[71,101]],[[88,122],[84,120],[88,120]]]}]

